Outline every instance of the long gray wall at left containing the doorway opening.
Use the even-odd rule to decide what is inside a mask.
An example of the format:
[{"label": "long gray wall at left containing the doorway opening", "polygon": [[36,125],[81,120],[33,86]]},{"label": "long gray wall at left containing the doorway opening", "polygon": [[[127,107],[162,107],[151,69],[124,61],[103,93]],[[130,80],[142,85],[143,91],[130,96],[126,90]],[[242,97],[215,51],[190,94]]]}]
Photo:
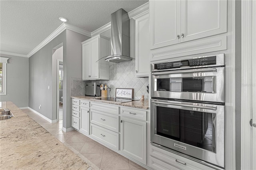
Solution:
[{"label": "long gray wall at left containing the doorway opening", "polygon": [[[66,31],[46,44],[29,58],[28,106],[48,119],[56,119],[56,88],[52,85],[52,49],[63,43],[66,56]],[[50,85],[50,90],[48,90]],[[39,109],[41,105],[41,109]]]}]

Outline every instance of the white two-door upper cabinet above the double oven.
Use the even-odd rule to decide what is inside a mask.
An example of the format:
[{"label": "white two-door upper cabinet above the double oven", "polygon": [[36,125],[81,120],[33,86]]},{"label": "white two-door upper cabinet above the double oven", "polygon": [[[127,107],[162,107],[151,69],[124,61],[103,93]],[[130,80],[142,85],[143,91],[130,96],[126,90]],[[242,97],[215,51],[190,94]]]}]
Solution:
[{"label": "white two-door upper cabinet above the double oven", "polygon": [[227,31],[226,0],[151,0],[150,49]]}]

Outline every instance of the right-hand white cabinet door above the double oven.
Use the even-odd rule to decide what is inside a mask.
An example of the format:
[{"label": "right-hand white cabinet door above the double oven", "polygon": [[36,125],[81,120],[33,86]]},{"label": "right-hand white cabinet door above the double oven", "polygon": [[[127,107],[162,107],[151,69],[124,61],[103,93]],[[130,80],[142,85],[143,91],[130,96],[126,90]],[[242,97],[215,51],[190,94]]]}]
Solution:
[{"label": "right-hand white cabinet door above the double oven", "polygon": [[182,0],[181,42],[227,32],[226,0]]}]

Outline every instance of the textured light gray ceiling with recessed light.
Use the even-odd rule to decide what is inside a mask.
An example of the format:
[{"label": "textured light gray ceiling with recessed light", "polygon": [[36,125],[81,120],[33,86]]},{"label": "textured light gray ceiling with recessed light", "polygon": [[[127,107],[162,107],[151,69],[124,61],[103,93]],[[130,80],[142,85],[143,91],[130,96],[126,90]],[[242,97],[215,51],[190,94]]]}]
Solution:
[{"label": "textured light gray ceiling with recessed light", "polygon": [[92,32],[110,22],[110,14],[126,12],[148,0],[0,0],[0,51],[27,55],[62,22]]}]

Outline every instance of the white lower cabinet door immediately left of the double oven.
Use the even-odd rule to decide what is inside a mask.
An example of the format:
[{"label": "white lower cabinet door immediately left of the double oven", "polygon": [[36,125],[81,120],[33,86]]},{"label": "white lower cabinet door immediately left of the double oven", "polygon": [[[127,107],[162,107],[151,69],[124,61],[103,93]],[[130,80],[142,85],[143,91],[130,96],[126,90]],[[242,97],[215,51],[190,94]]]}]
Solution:
[{"label": "white lower cabinet door immediately left of the double oven", "polygon": [[120,151],[146,164],[146,122],[121,117]]}]

